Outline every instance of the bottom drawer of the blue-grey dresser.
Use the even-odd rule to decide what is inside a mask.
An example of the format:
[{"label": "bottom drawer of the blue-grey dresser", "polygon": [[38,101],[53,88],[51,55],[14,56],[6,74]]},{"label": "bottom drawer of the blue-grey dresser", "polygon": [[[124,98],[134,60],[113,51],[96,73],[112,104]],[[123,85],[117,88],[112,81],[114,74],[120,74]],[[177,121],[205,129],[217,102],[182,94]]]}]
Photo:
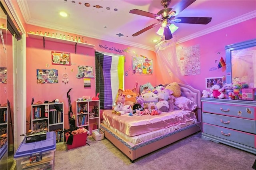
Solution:
[{"label": "bottom drawer of the blue-grey dresser", "polygon": [[255,148],[255,134],[203,123],[203,132]]}]

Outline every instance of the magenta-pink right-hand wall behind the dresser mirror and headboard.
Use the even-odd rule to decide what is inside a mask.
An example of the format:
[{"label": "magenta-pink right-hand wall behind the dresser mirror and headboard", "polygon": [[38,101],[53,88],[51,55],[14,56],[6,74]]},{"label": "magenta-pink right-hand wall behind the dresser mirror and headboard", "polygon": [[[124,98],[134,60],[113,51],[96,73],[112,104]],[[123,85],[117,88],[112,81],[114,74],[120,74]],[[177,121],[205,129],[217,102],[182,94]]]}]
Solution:
[{"label": "magenta-pink right-hand wall behind the dresser mirror and headboard", "polygon": [[[206,89],[206,77],[222,77],[226,75],[226,67],[217,68],[222,56],[226,59],[225,46],[256,38],[256,18],[212,32],[210,34],[194,38],[176,45],[176,49],[198,45],[200,47],[201,74],[183,76],[192,87],[202,91]],[[218,54],[220,52],[220,54]],[[215,62],[216,61],[216,62]],[[216,67],[216,70],[210,71]],[[161,82],[157,79],[157,82]]]}]

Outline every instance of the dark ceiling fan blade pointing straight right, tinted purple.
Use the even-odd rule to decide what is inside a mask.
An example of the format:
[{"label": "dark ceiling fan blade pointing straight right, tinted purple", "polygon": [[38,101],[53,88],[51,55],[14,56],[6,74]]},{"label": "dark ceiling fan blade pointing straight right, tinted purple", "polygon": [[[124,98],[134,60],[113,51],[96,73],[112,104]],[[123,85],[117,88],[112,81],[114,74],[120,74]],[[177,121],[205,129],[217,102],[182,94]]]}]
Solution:
[{"label": "dark ceiling fan blade pointing straight right, tinted purple", "polygon": [[177,17],[173,21],[186,24],[208,24],[212,17]]}]

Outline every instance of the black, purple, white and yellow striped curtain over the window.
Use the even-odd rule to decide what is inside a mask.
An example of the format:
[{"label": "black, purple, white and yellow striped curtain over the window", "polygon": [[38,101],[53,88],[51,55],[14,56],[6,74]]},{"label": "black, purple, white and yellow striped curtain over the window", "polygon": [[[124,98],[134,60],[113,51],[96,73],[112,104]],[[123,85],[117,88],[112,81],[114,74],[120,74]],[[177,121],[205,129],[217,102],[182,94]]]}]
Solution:
[{"label": "black, purple, white and yellow striped curtain over the window", "polygon": [[112,109],[118,89],[124,87],[124,56],[95,51],[95,71],[100,109]]}]

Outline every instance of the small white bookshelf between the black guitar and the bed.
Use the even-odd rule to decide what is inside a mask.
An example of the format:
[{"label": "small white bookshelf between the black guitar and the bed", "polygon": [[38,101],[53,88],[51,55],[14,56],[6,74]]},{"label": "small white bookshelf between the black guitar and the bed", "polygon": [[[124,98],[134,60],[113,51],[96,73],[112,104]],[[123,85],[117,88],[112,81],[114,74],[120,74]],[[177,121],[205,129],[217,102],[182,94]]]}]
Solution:
[{"label": "small white bookshelf between the black guitar and the bed", "polygon": [[100,101],[76,101],[76,126],[90,131],[100,128]]}]

